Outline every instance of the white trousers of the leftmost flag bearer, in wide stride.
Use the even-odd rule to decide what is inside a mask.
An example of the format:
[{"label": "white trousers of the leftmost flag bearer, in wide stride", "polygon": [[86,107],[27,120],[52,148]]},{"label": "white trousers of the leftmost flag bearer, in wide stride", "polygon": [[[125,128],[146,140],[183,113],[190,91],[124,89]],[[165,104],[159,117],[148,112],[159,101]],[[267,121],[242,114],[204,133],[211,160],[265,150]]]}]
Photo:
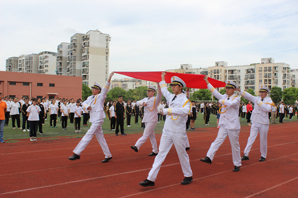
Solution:
[{"label": "white trousers of the leftmost flag bearer, in wide stride", "polygon": [[86,134],[82,137],[80,142],[74,148],[73,152],[75,154],[80,155],[80,153],[86,148],[86,146],[91,141],[93,135],[95,134],[97,141],[100,144],[103,153],[105,154],[105,158],[112,157],[108,144],[103,136],[103,132],[101,128],[102,124],[103,124],[103,119],[97,123],[92,123],[90,129],[86,132]]}]

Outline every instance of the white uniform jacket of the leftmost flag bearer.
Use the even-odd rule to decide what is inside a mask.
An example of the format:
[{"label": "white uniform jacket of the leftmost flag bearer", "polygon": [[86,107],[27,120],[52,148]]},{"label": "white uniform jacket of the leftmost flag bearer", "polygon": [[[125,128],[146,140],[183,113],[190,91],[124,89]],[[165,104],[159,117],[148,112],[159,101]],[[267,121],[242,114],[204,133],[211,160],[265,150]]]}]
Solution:
[{"label": "white uniform jacket of the leftmost flag bearer", "polygon": [[90,123],[96,123],[97,121],[104,119],[106,117],[103,109],[104,100],[107,97],[107,93],[109,91],[110,83],[106,82],[103,88],[101,89],[101,93],[95,95],[93,97],[89,96],[87,100],[82,103],[82,108],[87,110],[88,107],[91,107],[90,110]]}]

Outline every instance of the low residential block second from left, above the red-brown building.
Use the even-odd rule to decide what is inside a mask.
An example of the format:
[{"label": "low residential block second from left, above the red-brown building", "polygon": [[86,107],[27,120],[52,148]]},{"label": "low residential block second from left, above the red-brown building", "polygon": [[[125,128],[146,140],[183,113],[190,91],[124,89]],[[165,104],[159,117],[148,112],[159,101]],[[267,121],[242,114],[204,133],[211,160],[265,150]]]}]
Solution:
[{"label": "low residential block second from left, above the red-brown building", "polygon": [[18,58],[17,72],[37,73],[38,57],[38,54],[21,55]]}]

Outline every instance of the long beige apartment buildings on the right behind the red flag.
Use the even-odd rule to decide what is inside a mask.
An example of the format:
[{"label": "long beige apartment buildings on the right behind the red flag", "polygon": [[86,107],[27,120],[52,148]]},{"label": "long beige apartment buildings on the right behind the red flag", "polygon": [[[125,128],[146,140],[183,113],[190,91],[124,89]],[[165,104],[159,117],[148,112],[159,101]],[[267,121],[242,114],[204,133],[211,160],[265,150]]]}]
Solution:
[{"label": "long beige apartment buildings on the right behind the red flag", "polygon": [[[282,90],[289,87],[298,87],[298,69],[291,70],[285,63],[274,63],[273,58],[261,59],[261,63],[243,66],[227,66],[227,62],[215,62],[215,66],[206,68],[192,68],[192,65],[183,64],[179,69],[166,71],[204,74],[211,78],[225,81],[233,80],[244,90],[249,88],[259,91],[259,85],[265,85],[269,89],[273,86],[281,87]],[[208,72],[207,72],[208,71]],[[191,89],[194,92],[196,89]]]}]

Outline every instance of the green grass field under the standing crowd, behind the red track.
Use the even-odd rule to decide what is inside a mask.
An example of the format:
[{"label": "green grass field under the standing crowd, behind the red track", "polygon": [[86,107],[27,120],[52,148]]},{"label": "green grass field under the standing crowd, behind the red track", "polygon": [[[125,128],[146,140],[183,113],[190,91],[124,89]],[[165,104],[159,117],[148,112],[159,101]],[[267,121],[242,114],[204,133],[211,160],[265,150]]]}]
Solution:
[{"label": "green grass field under the standing crowd, behind the red track", "polygon": [[[214,128],[214,131],[218,131],[218,129],[216,128],[216,117],[214,115],[210,116],[210,122],[209,122],[209,126],[205,125],[205,121],[203,118],[203,114],[199,113],[198,114],[198,118],[195,122],[195,128],[196,131],[198,132],[200,131],[200,128]],[[297,121],[297,116],[293,117],[293,120],[289,120],[289,118],[285,118],[284,122],[292,122],[292,121]],[[68,127],[66,131],[62,130],[61,127],[61,122],[60,122],[60,118],[57,121],[57,128],[50,128],[50,119],[48,116],[48,120],[45,121],[45,125],[43,126],[43,132],[44,134],[41,135],[39,134],[39,132],[37,132],[37,138],[38,137],[59,137],[59,136],[74,136],[74,137],[81,137],[82,135],[84,135],[88,129],[91,126],[91,123],[88,122],[88,126],[82,126],[82,119],[81,119],[81,132],[77,133],[74,132],[74,125],[70,124],[70,120],[68,119]],[[278,123],[278,119],[277,119],[277,123]],[[247,126],[246,120],[245,119],[241,119],[240,118],[240,124],[241,126]],[[162,132],[162,128],[164,125],[164,121],[160,121],[160,123],[157,123],[156,127],[155,127],[155,133],[161,133]],[[22,119],[21,119],[21,126],[22,126]],[[115,133],[115,131],[111,131],[110,130],[110,121],[109,119],[105,118],[105,121],[102,125],[102,129],[103,129],[103,133],[104,134],[108,134],[108,133]],[[141,120],[139,119],[139,124],[136,125],[134,122],[134,117],[132,117],[131,119],[131,127],[127,127],[126,126],[126,120],[124,120],[124,132],[127,134],[131,134],[131,133],[143,133],[144,130],[141,128]],[[192,131],[189,131],[192,132]],[[11,120],[9,120],[9,124],[7,127],[4,127],[4,134],[3,134],[3,140],[7,141],[7,142],[13,142],[13,139],[23,139],[23,138],[28,138],[29,139],[29,132],[23,132],[21,129],[12,129],[12,125],[11,125]]]}]

